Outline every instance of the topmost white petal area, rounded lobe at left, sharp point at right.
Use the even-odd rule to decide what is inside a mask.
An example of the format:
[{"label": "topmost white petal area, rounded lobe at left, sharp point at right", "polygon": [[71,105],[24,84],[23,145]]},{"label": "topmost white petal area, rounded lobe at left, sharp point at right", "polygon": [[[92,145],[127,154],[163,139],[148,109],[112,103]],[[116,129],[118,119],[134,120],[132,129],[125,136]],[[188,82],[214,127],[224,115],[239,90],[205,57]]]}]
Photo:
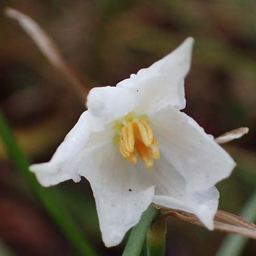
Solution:
[{"label": "topmost white petal area, rounded lobe at left, sharp point at right", "polygon": [[[174,52],[141,69],[137,75],[114,86],[93,88],[87,97],[87,107],[96,126],[121,118],[131,111],[150,114],[171,104],[185,107],[184,78],[191,64],[193,39],[188,38]],[[99,129],[100,130],[100,129]]]}]

